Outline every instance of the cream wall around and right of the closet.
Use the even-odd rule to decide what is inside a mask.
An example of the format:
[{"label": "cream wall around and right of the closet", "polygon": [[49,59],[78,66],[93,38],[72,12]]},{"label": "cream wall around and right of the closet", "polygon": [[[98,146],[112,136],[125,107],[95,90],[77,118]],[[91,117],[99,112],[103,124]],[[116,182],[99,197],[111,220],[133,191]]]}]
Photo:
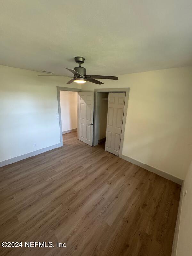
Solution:
[{"label": "cream wall around and right of the closet", "polygon": [[118,77],[82,89],[130,87],[123,155],[184,179],[192,154],[192,67]]}]

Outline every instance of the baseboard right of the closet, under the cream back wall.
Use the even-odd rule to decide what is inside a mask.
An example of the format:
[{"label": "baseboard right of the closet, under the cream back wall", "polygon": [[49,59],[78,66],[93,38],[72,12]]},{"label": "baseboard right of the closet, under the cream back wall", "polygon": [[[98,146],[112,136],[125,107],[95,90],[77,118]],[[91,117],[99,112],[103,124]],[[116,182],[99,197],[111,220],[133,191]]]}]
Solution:
[{"label": "baseboard right of the closet, under the cream back wall", "polygon": [[137,160],[135,160],[135,159],[133,159],[131,157],[128,157],[128,156],[119,155],[119,157],[123,158],[124,160],[126,160],[128,162],[131,162],[132,164],[136,164],[136,165],[138,165],[138,166],[140,166],[140,167],[142,167],[142,168],[144,168],[144,169],[146,169],[146,170],[148,170],[150,172],[154,172],[157,175],[159,175],[161,177],[164,177],[165,179],[171,180],[171,181],[173,181],[173,182],[175,182],[177,184],[182,185],[183,180],[181,180],[180,178],[175,177],[175,176],[173,176],[173,175],[171,175],[171,174],[169,174],[167,172],[164,172],[164,171],[161,171],[159,169],[156,169],[155,167],[152,167],[152,166],[150,166],[148,164],[141,163],[141,162],[139,162],[139,161],[137,161]]}]

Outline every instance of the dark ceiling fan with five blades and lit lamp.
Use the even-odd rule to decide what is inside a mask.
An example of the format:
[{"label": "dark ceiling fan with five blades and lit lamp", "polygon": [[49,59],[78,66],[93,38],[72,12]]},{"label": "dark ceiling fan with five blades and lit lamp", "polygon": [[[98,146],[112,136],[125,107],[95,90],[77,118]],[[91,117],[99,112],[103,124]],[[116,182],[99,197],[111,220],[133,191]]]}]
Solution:
[{"label": "dark ceiling fan with five blades and lit lamp", "polygon": [[[102,82],[96,80],[95,78],[118,80],[117,76],[86,75],[86,68],[81,67],[81,64],[84,63],[84,61],[85,61],[84,57],[75,57],[75,62],[79,64],[79,67],[75,67],[74,69],[66,68],[67,70],[73,73],[73,76],[67,76],[67,77],[73,77],[73,78],[69,80],[66,84],[71,84],[72,82],[83,84],[83,83],[86,83],[87,81],[92,82],[94,84],[103,84]],[[38,75],[38,76],[59,76],[59,75]]]}]

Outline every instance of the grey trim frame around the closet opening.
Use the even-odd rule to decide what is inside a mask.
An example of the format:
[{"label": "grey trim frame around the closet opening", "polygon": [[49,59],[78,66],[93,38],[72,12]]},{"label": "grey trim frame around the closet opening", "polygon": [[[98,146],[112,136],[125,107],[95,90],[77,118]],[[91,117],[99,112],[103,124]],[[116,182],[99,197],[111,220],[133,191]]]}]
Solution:
[{"label": "grey trim frame around the closet opening", "polygon": [[123,123],[121,130],[121,140],[119,146],[119,157],[122,156],[123,150],[123,141],[125,133],[125,123],[127,118],[127,107],[129,100],[129,90],[130,88],[106,88],[106,89],[95,89],[94,90],[94,116],[93,116],[93,146],[98,144],[98,131],[99,131],[99,104],[98,104],[98,92],[125,92],[125,104],[124,104],[124,113],[123,113]]}]

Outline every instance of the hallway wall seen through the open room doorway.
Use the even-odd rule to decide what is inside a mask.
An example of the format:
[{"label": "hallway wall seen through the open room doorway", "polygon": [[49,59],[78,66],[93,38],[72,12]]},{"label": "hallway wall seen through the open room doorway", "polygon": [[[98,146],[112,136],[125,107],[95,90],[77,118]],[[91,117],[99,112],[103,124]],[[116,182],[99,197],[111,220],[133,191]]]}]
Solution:
[{"label": "hallway wall seen through the open room doorway", "polygon": [[77,128],[77,92],[60,91],[62,131]]}]

